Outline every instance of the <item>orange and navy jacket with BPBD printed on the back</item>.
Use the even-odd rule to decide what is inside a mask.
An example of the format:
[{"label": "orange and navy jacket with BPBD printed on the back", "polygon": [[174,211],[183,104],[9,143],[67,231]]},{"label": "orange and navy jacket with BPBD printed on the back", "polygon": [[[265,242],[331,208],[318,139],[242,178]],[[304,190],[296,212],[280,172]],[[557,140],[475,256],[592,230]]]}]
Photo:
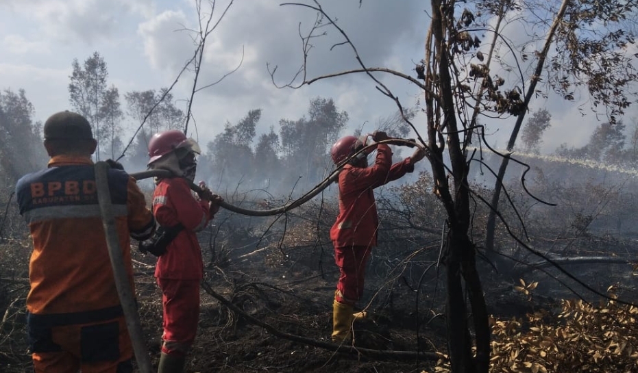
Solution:
[{"label": "orange and navy jacket with BPBD printed on the back", "polygon": [[[124,267],[133,284],[130,236],[147,239],[155,220],[126,172],[108,170],[108,184]],[[34,244],[29,262],[29,313],[47,317],[52,324],[91,322],[121,314],[93,162],[82,157],[53,157],[49,168],[18,181],[16,195]]]}]

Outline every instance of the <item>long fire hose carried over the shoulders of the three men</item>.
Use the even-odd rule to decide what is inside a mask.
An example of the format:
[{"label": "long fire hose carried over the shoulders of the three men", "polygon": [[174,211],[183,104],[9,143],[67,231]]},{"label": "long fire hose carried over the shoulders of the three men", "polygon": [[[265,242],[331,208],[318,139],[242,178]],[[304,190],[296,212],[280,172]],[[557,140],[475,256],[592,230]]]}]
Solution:
[{"label": "long fire hose carried over the shoulders of the three men", "polygon": [[[423,146],[415,142],[415,140],[406,140],[406,139],[389,139],[383,140],[380,142],[376,142],[373,144],[369,144],[364,146],[362,149],[354,153],[352,156],[345,159],[341,164],[339,164],[334,171],[330,173],[326,179],[323,179],[321,183],[317,184],[315,188],[312,188],[310,192],[304,194],[301,198],[288,203],[282,207],[277,207],[275,209],[267,209],[267,210],[251,210],[251,209],[243,209],[242,207],[237,207],[234,205],[230,205],[229,203],[221,202],[220,206],[224,209],[228,209],[230,211],[236,212],[237,214],[243,214],[248,216],[273,216],[277,214],[282,214],[286,211],[290,211],[295,207],[299,207],[309,201],[312,197],[319,194],[322,190],[326,189],[328,185],[336,181],[337,177],[339,177],[339,172],[343,169],[351,159],[354,159],[357,155],[362,152],[371,153],[374,149],[376,149],[377,144],[392,144],[392,145],[400,145],[400,146],[419,146],[420,149],[423,149]],[[145,339],[143,337],[142,326],[140,323],[140,318],[137,313],[137,305],[135,301],[134,294],[132,293],[132,284],[128,283],[127,272],[124,268],[124,261],[122,255],[122,249],[119,244],[119,236],[117,233],[117,229],[115,226],[115,218],[112,209],[111,196],[108,188],[108,169],[110,166],[106,162],[97,162],[95,164],[95,184],[97,185],[97,198],[99,202],[99,208],[102,217],[102,224],[104,227],[104,233],[106,235],[106,244],[108,246],[108,254],[111,261],[111,266],[113,268],[113,275],[115,279],[115,287],[117,293],[120,298],[120,303],[122,305],[124,318],[126,320],[126,326],[129,331],[129,335],[131,337],[133,351],[135,354],[135,359],[138,365],[138,369],[141,373],[151,373],[151,361],[147,354],[147,348],[145,345]],[[135,172],[130,174],[130,176],[134,177],[136,180],[147,179],[149,177],[173,177],[172,172],[168,170],[147,170],[143,172]],[[201,192],[201,188],[199,185],[196,185],[193,182],[189,182],[191,189],[195,192]]]}]

